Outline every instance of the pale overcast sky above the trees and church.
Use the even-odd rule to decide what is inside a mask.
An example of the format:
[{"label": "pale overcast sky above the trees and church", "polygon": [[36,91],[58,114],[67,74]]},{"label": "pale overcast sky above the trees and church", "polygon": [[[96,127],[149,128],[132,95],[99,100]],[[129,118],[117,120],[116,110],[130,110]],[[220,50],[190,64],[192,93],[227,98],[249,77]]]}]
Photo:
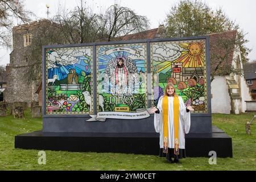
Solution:
[{"label": "pale overcast sky above the trees and church", "polygon": [[[151,28],[157,28],[159,24],[163,24],[166,15],[171,9],[171,6],[179,2],[179,0],[88,0],[88,5],[93,7],[94,13],[104,11],[114,2],[119,2],[122,6],[129,7],[139,15],[147,16],[150,19]],[[247,47],[253,49],[249,54],[250,60],[256,60],[256,15],[255,15],[255,0],[205,0],[212,9],[222,7],[226,15],[237,24],[244,32],[247,32],[246,39],[250,42]],[[24,0],[25,8],[32,11],[39,18],[47,18],[47,8],[49,5],[49,18],[55,15],[59,4],[64,5],[66,9],[80,5],[80,0]],[[9,54],[11,50],[1,48],[0,50],[0,65],[10,63]]]}]

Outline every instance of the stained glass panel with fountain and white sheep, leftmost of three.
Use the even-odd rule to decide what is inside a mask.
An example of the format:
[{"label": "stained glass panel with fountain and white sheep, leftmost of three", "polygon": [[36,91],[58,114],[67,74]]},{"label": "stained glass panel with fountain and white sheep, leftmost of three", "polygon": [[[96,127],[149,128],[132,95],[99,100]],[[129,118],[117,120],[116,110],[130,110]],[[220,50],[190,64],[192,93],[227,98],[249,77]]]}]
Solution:
[{"label": "stained glass panel with fountain and white sheep, leftmost of three", "polygon": [[46,49],[46,113],[92,113],[92,47]]}]

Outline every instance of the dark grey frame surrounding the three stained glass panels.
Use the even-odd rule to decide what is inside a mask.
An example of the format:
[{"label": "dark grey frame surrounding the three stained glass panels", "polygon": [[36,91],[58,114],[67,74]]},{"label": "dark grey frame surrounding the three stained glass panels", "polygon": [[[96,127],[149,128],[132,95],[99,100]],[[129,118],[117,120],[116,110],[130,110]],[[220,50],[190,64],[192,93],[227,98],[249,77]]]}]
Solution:
[{"label": "dark grey frame surrounding the three stained glass panels", "polygon": [[[97,69],[98,69],[98,55],[97,55],[97,48],[98,47],[108,47],[108,46],[117,46],[117,45],[138,45],[143,44],[145,46],[146,54],[145,54],[145,61],[146,61],[146,73],[152,73],[153,65],[152,65],[152,45],[156,44],[164,44],[168,42],[196,42],[197,40],[202,40],[205,42],[205,51],[204,51],[204,78],[205,82],[205,98],[207,102],[205,102],[205,110],[200,112],[192,113],[192,117],[205,117],[210,118],[211,116],[211,108],[210,108],[210,64],[209,64],[209,37],[208,36],[196,36],[196,37],[188,37],[188,38],[175,38],[175,39],[143,39],[143,40],[128,40],[128,41],[116,41],[116,42],[100,42],[100,43],[85,43],[85,44],[70,44],[70,45],[56,45],[56,46],[43,46],[42,52],[43,52],[43,118],[61,118],[61,117],[70,117],[70,118],[81,118],[81,117],[89,117],[89,114],[96,114],[97,113],[97,104],[98,104],[98,98],[97,98]],[[46,110],[46,50],[48,49],[59,49],[59,48],[73,48],[73,47],[92,47],[92,112],[91,113],[72,113],[72,114],[66,114],[66,113],[59,113],[59,114],[48,114]],[[152,90],[154,89],[154,85],[151,83],[154,83],[153,76],[147,77],[147,93],[152,93]],[[152,85],[152,86],[149,86]],[[152,106],[154,103],[154,100],[152,100],[152,94],[146,98],[147,100],[147,107]],[[95,99],[96,98],[96,99]],[[150,101],[151,100],[151,101]]]}]

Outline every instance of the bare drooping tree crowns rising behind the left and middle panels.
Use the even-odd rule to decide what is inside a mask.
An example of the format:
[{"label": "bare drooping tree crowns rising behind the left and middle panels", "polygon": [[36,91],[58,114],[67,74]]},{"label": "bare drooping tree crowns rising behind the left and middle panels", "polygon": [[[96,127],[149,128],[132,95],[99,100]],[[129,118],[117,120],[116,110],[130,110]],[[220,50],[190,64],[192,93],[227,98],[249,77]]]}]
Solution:
[{"label": "bare drooping tree crowns rising behind the left and middle panels", "polygon": [[105,13],[93,13],[92,8],[81,5],[73,10],[59,9],[53,22],[68,43],[111,41],[118,36],[140,32],[149,28],[145,16],[137,15],[128,7],[114,4]]}]

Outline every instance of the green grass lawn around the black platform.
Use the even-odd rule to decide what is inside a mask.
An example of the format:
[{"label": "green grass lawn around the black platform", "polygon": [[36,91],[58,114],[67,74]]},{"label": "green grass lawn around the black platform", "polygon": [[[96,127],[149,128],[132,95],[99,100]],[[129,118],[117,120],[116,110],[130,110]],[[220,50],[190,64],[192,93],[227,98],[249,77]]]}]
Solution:
[{"label": "green grass lawn around the black platform", "polygon": [[232,137],[233,144],[233,158],[217,158],[216,165],[210,165],[209,158],[168,164],[154,155],[65,151],[46,151],[46,165],[39,165],[39,151],[14,148],[15,135],[42,129],[42,118],[31,118],[29,113],[26,111],[26,119],[0,118],[0,170],[256,170],[256,121],[251,135],[245,133],[245,122],[254,113],[213,114],[213,125]]}]

